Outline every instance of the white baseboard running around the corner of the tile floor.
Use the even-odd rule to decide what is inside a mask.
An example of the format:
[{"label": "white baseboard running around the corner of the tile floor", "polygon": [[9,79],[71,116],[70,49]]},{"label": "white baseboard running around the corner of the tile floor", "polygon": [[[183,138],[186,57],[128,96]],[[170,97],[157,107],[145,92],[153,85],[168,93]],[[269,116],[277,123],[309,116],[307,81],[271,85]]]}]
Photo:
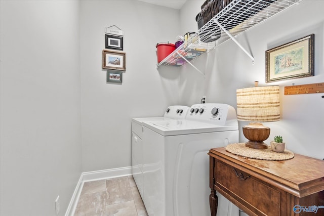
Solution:
[{"label": "white baseboard running around the corner of the tile floor", "polygon": [[82,172],[79,181],[76,184],[72,198],[65,212],[65,216],[72,216],[74,214],[77,202],[79,200],[83,185],[85,182],[98,181],[103,179],[112,179],[123,176],[132,175],[132,167],[121,167],[114,169],[105,169],[98,171]]}]

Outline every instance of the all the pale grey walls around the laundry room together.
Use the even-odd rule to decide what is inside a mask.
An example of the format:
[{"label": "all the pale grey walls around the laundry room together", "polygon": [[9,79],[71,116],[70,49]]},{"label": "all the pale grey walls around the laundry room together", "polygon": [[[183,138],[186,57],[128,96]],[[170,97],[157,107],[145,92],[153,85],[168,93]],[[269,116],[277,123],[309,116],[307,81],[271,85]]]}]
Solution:
[{"label": "all the pale grey walls around the laundry room together", "polygon": [[[203,3],[189,0],[178,11],[132,0],[0,1],[1,215],[54,215],[57,195],[62,215],[81,171],[131,165],[132,117],[191,106],[203,95],[236,107],[236,89],[265,84],[265,51],[310,33],[315,76],[270,83],[280,85],[282,117],[267,123],[267,142],[280,134],[290,150],[324,157],[321,95],[283,93],[292,83],[323,82],[324,1],[304,0],[239,35],[254,65],[228,41],[194,61],[206,78],[187,64],[156,69],[156,43],[195,31]],[[110,25],[125,34],[122,84],[107,83],[101,68]]]}]

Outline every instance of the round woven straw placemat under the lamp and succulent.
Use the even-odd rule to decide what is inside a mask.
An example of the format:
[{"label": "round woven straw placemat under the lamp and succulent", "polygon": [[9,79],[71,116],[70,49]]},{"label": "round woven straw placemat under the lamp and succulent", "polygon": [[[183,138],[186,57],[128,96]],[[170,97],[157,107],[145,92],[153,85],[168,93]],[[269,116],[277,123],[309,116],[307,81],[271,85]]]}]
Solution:
[{"label": "round woven straw placemat under the lamp and succulent", "polygon": [[260,160],[288,160],[294,157],[294,153],[289,150],[274,152],[270,146],[267,149],[252,149],[246,147],[245,143],[229,144],[225,149],[232,154]]}]

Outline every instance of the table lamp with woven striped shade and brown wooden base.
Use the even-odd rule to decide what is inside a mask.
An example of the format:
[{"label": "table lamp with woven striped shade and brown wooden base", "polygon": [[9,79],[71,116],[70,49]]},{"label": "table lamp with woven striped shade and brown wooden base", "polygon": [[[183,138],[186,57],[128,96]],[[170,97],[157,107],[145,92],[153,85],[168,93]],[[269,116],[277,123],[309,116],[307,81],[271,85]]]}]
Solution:
[{"label": "table lamp with woven striped shade and brown wooden base", "polygon": [[243,126],[243,134],[249,140],[245,146],[267,149],[263,141],[268,139],[270,128],[261,122],[280,120],[279,86],[269,85],[236,90],[237,120],[251,121]]}]

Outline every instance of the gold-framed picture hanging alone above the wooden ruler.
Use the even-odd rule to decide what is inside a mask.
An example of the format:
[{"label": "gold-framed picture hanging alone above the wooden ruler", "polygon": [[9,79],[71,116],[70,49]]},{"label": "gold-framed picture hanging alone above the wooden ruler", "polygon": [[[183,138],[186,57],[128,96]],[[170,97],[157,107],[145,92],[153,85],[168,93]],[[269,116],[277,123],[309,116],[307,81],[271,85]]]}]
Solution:
[{"label": "gold-framed picture hanging alone above the wooden ruler", "polygon": [[314,75],[314,34],[266,51],[266,82]]}]

